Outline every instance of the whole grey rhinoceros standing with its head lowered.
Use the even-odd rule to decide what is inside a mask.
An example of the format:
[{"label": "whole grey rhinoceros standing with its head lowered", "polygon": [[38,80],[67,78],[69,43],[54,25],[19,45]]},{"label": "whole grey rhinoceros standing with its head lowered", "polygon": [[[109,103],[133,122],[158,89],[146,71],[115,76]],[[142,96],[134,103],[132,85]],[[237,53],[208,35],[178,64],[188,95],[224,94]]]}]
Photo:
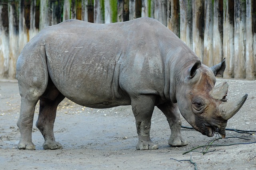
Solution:
[{"label": "whole grey rhinoceros standing with its head lowered", "polygon": [[227,120],[244,104],[247,94],[226,101],[228,84],[215,86],[221,63],[205,66],[166,26],[152,18],[93,24],[66,20],[40,31],[17,60],[21,96],[19,149],[34,150],[34,110],[44,149],[62,149],[54,138],[58,104],[66,97],[90,108],[131,105],[138,133],[137,150],[157,149],[150,139],[151,117],[157,106],[166,116],[170,146],[187,145],[181,137],[180,113],[207,136],[225,137]]}]

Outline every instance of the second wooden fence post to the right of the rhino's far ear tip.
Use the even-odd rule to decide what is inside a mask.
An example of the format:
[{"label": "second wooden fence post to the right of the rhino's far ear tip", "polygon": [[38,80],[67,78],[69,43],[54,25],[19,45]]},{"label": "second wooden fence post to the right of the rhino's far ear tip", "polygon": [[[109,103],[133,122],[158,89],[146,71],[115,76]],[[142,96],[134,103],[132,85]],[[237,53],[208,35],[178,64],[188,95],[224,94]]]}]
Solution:
[{"label": "second wooden fence post to the right of the rhino's far ear tip", "polygon": [[246,77],[246,58],[245,58],[245,46],[246,46],[246,2],[244,0],[235,0],[235,12],[234,12],[234,78]]}]

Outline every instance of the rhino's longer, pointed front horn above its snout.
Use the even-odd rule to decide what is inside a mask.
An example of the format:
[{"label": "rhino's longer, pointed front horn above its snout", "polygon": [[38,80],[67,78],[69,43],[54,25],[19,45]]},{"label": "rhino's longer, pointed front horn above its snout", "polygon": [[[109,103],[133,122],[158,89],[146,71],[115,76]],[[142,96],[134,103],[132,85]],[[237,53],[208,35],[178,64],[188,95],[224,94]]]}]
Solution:
[{"label": "rhino's longer, pointed front horn above its snout", "polygon": [[240,100],[235,102],[222,102],[219,106],[220,115],[224,120],[232,118],[243,106],[248,94],[245,94]]}]

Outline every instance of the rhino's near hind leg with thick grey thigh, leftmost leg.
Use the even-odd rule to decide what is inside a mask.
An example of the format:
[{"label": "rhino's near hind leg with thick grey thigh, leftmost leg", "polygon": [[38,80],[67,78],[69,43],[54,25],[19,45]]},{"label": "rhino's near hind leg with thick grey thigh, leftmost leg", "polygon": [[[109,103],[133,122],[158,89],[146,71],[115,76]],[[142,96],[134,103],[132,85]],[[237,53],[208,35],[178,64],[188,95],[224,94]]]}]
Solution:
[{"label": "rhino's near hind leg with thick grey thigh, leftmost leg", "polygon": [[[33,51],[34,50],[34,51]],[[35,150],[32,143],[32,127],[36,103],[44,94],[48,81],[44,48],[24,48],[16,65],[16,79],[18,80],[21,96],[20,117],[17,126],[20,129],[18,149]],[[38,55],[41,50],[42,55]],[[33,62],[31,61],[33,58]]]}]

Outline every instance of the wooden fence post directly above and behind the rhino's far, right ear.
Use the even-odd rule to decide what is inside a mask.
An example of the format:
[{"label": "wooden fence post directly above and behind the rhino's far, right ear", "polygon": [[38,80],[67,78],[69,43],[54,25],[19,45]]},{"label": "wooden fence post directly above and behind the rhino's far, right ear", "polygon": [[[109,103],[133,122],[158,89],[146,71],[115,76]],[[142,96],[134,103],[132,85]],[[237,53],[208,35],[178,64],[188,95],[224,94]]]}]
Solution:
[{"label": "wooden fence post directly above and behind the rhino's far, right ear", "polygon": [[214,1],[213,11],[213,65],[216,65],[223,59],[223,0]]}]

